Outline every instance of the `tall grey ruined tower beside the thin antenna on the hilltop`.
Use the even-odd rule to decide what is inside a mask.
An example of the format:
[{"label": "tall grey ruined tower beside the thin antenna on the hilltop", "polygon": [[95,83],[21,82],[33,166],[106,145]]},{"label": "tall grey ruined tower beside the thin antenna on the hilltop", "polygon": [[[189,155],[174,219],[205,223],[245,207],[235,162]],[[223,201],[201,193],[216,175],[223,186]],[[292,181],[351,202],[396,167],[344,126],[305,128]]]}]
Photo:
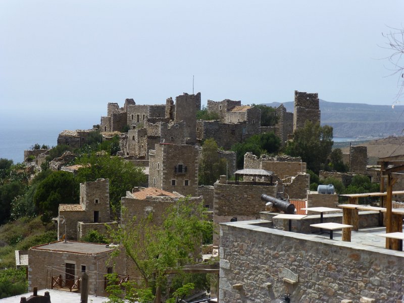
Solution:
[{"label": "tall grey ruined tower beside the thin antenna on the hilltop", "polygon": [[189,95],[184,93],[175,98],[175,122],[185,122],[187,144],[196,143],[196,107],[200,108],[200,92]]}]

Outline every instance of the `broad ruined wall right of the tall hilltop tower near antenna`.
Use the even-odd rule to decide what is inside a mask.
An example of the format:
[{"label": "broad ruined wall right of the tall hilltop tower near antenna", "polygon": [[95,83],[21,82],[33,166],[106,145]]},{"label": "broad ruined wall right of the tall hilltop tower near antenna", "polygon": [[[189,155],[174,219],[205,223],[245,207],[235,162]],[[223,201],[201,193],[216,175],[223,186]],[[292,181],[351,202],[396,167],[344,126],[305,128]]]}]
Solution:
[{"label": "broad ruined wall right of the tall hilltop tower near antenna", "polygon": [[196,132],[198,142],[214,138],[219,147],[230,149],[231,145],[241,142],[245,135],[246,123],[226,124],[219,121],[197,121]]}]

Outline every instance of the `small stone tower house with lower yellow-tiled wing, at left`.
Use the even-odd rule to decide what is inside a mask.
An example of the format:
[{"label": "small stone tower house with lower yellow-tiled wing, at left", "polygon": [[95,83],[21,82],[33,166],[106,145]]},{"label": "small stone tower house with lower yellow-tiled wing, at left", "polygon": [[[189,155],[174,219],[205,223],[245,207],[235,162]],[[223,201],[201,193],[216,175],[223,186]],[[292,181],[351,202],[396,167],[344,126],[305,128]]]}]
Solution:
[{"label": "small stone tower house with lower yellow-tiled wing, at left", "polygon": [[110,191],[108,179],[97,179],[80,184],[80,204],[60,204],[58,238],[80,240],[91,230],[106,234],[106,224],[117,226],[110,216]]}]

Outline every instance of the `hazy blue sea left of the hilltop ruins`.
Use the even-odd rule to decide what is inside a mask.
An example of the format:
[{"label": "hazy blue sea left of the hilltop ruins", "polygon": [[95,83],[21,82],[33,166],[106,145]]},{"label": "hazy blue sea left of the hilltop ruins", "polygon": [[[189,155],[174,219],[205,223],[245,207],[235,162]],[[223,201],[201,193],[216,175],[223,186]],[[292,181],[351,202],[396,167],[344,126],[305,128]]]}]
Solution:
[{"label": "hazy blue sea left of the hilltop ruins", "polygon": [[35,143],[56,146],[63,130],[91,129],[100,123],[100,116],[93,113],[31,116],[0,113],[0,158],[11,159],[15,164],[23,162],[24,150],[31,149]]}]

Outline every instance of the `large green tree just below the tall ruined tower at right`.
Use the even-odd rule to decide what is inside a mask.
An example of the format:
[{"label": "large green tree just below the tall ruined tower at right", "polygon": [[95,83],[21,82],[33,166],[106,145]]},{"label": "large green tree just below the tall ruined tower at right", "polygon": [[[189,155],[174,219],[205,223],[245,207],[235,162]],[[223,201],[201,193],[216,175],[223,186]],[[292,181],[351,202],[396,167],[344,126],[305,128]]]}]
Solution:
[{"label": "large green tree just below the tall ruined tower at right", "polygon": [[319,173],[327,165],[328,155],[333,145],[332,127],[320,126],[320,123],[306,121],[305,126],[293,133],[293,140],[289,141],[285,154],[292,157],[301,157],[307,163],[307,168]]}]

